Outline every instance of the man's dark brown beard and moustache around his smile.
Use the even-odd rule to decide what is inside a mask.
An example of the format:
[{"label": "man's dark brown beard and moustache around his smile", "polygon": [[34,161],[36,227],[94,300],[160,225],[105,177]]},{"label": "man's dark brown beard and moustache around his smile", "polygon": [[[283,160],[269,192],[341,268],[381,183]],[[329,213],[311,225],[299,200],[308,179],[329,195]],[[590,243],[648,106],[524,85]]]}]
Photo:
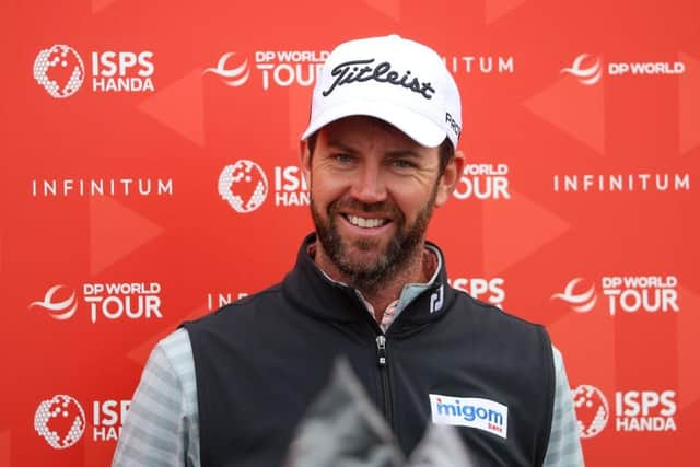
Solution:
[{"label": "man's dark brown beard and moustache around his smile", "polygon": [[[336,200],[328,205],[326,217],[322,217],[314,198],[311,199],[311,212],[316,227],[316,235],[324,250],[349,281],[349,284],[365,293],[373,293],[394,279],[416,258],[422,256],[422,244],[425,231],[432,217],[438,184],[432,190],[431,197],[418,213],[416,221],[407,225],[406,217],[392,201],[378,203],[364,203],[354,199]],[[377,240],[343,240],[338,232],[338,219],[343,210],[353,210],[372,214],[375,212],[389,213],[396,223],[396,233],[389,238],[382,252],[377,253],[374,261],[358,258],[349,252],[354,246],[360,252],[373,252],[381,248]],[[351,244],[349,244],[351,242]]]}]

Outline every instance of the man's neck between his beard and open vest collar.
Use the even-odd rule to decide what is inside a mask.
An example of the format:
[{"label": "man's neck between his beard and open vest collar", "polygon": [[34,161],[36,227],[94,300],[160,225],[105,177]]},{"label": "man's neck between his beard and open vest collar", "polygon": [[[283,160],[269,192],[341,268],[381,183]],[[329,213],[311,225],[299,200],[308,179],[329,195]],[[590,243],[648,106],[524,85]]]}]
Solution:
[{"label": "man's neck between his beard and open vest collar", "polygon": [[359,290],[364,300],[372,305],[377,323],[382,320],[382,316],[387,306],[398,300],[404,285],[407,283],[428,282],[434,273],[436,266],[435,258],[425,249],[424,243],[421,242],[417,248],[418,253],[410,258],[408,264],[396,271],[396,273],[382,277],[378,281],[368,285],[354,283],[352,278],[340,271],[326,254],[319,242],[314,245],[313,249],[315,249],[315,252],[312,250],[312,257],[314,257],[316,266],[332,280],[347,283]]}]

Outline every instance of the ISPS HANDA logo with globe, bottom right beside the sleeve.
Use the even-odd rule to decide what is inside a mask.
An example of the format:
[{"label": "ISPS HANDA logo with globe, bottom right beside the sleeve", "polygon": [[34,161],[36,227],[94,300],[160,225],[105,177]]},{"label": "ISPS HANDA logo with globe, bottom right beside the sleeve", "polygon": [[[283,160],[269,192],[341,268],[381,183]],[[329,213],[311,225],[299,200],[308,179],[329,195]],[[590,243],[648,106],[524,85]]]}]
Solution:
[{"label": "ISPS HANDA logo with globe, bottom right beside the sleeve", "polygon": [[579,434],[583,439],[595,437],[604,430],[610,430],[610,425],[620,433],[674,432],[678,429],[674,389],[617,390],[614,399],[608,400],[599,388],[582,384],[572,394]]}]

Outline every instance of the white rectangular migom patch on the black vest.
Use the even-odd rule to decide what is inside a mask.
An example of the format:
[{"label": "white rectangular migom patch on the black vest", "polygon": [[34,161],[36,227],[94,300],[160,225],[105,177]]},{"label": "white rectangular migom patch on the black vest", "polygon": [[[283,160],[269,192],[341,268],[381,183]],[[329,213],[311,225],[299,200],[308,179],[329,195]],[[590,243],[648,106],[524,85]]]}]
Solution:
[{"label": "white rectangular migom patch on the black vest", "polygon": [[433,423],[478,428],[508,439],[508,406],[479,397],[429,396]]}]

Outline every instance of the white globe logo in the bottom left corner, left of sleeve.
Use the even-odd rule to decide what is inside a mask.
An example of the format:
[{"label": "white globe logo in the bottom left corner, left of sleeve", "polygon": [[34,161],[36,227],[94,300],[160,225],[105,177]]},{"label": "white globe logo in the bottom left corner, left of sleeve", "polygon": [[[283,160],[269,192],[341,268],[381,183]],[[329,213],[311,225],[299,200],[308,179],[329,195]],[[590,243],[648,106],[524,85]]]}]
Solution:
[{"label": "white globe logo in the bottom left corner, left of sleeve", "polygon": [[85,432],[85,412],[78,400],[59,394],[39,404],[34,429],[51,447],[65,450],[78,443]]}]

